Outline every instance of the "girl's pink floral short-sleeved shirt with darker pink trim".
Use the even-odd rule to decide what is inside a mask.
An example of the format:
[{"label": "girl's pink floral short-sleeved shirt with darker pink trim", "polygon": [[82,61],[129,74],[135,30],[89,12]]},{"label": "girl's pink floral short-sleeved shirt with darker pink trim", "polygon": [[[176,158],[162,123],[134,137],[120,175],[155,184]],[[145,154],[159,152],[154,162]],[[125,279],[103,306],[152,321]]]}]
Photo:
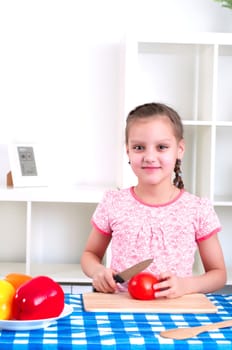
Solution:
[{"label": "girl's pink floral short-sleeved shirt with darker pink trim", "polygon": [[171,271],[182,277],[192,275],[197,242],[221,229],[210,201],[185,190],[162,205],[141,202],[133,188],[107,191],[92,224],[100,234],[112,236],[115,271],[152,257],[148,271],[155,275]]}]

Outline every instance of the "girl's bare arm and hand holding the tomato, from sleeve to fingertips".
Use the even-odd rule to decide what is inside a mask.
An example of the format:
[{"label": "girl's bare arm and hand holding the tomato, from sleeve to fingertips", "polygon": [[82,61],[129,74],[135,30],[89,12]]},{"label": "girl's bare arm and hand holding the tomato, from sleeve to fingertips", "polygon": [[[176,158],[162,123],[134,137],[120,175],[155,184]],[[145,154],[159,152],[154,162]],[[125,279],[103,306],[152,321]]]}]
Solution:
[{"label": "girl's bare arm and hand holding the tomato, from sleeve to fingertips", "polygon": [[[184,294],[210,293],[226,283],[224,257],[217,234],[198,243],[205,272],[199,276],[177,277],[169,272],[160,275],[160,282],[154,286],[155,296],[176,298]],[[163,290],[156,291],[158,288]]]}]

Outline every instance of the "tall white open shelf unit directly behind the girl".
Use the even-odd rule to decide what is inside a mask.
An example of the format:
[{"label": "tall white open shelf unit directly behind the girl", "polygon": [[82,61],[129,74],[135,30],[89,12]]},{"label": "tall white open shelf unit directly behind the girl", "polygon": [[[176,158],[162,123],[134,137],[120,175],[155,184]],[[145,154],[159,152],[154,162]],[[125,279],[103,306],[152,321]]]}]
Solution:
[{"label": "tall white open shelf unit directly behind the girl", "polygon": [[[232,34],[129,34],[124,71],[125,116],[137,105],[163,102],[183,119],[185,187],[213,202],[232,284]],[[124,156],[121,186],[133,182]],[[194,271],[202,271],[198,256]]]}]

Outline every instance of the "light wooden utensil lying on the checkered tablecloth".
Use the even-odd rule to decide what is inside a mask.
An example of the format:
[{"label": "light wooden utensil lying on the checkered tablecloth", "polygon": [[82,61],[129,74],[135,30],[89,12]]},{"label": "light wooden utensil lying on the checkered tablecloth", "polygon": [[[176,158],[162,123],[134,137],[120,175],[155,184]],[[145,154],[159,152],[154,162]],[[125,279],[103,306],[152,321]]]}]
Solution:
[{"label": "light wooden utensil lying on the checkered tablecloth", "polygon": [[161,337],[171,338],[176,340],[195,337],[196,335],[210,331],[212,329],[232,327],[232,320],[215,322],[204,326],[187,327],[187,328],[172,328],[160,333]]}]

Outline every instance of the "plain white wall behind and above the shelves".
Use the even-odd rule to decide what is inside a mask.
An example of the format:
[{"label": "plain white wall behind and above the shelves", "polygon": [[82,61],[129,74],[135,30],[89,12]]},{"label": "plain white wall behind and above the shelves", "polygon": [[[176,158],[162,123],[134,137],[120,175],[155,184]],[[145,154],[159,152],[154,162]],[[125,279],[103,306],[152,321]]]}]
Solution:
[{"label": "plain white wall behind and above the shelves", "polygon": [[232,10],[213,0],[0,2],[1,185],[5,145],[17,142],[48,145],[57,182],[114,183],[128,29],[231,32]]}]

